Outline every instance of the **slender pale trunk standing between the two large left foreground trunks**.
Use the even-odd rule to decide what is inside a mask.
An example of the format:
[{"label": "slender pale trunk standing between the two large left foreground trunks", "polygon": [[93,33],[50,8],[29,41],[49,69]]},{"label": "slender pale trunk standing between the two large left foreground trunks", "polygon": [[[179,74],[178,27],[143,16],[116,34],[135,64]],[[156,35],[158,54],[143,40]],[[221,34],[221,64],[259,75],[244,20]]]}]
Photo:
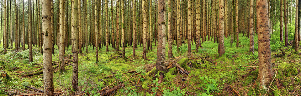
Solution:
[{"label": "slender pale trunk standing between the two large left foreground trunks", "polygon": [[65,30],[64,30],[64,16],[65,16],[65,9],[64,9],[64,0],[60,0],[60,34],[59,34],[59,58],[60,58],[60,73],[66,71],[65,70],[65,46],[64,46],[64,36],[65,36]]}]

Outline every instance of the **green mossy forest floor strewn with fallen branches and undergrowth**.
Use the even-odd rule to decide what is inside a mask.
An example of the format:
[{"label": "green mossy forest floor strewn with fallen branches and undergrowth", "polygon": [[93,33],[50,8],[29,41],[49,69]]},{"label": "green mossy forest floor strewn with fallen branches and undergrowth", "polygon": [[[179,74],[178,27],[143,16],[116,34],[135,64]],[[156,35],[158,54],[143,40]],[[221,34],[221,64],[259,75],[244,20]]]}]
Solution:
[{"label": "green mossy forest floor strewn with fallen branches and undergrowth", "polygon": [[[291,45],[289,48],[283,47],[284,43],[280,43],[277,40],[277,36],[279,35],[275,34],[271,38],[272,70],[274,73],[277,72],[277,74],[268,94],[270,96],[298,96],[301,94],[301,56],[294,53]],[[152,70],[156,63],[157,49],[155,43],[153,43],[153,49],[147,53],[149,60],[141,59],[143,46],[137,46],[137,56],[135,58],[132,57],[132,47],[126,47],[125,55],[128,59],[124,60],[121,58],[120,52],[115,51],[110,45],[109,52],[106,52],[105,48],[100,49],[99,62],[96,63],[95,50],[92,47],[88,47],[88,53],[85,52],[85,49],[82,50],[83,54],[78,56],[80,90],[76,92],[76,95],[260,95],[258,91],[260,89],[252,87],[253,84],[256,84],[255,80],[258,75],[257,34],[254,38],[254,54],[249,53],[249,39],[246,36],[240,35],[239,40],[240,44],[237,48],[235,47],[236,41],[233,42],[231,47],[230,39],[225,38],[225,54],[220,57],[218,56],[218,44],[213,43],[213,41],[205,41],[202,47],[198,49],[199,52],[195,51],[195,43],[192,44],[193,56],[190,57],[187,57],[187,44],[183,44],[180,47],[180,52],[177,52],[177,46],[174,45],[173,55],[175,58],[168,59],[168,44],[166,44],[165,62],[166,65],[172,64],[172,66],[168,69],[165,79],[160,84],[158,84],[158,79],[156,78],[157,73]],[[66,72],[63,74],[57,71],[59,52],[57,49],[54,50],[53,80],[56,95],[70,96],[73,94],[71,91],[72,53],[70,50],[71,47],[69,47],[65,55]],[[37,47],[34,47],[33,51],[34,61],[32,63],[28,63],[28,50],[16,51],[9,49],[7,54],[0,54],[0,70],[2,74],[0,78],[0,96],[42,94],[40,91],[43,90],[43,74],[41,73],[43,71],[43,55],[38,52]],[[181,74],[177,70],[178,67],[174,67],[176,63],[187,70],[189,75]],[[123,74],[126,72],[129,73]],[[30,73],[34,74],[30,75]],[[123,81],[125,82],[122,83]],[[110,84],[112,85],[108,86]],[[39,90],[29,89],[25,86],[31,86]],[[107,88],[103,89],[105,87]],[[235,93],[236,91],[237,93]]]}]

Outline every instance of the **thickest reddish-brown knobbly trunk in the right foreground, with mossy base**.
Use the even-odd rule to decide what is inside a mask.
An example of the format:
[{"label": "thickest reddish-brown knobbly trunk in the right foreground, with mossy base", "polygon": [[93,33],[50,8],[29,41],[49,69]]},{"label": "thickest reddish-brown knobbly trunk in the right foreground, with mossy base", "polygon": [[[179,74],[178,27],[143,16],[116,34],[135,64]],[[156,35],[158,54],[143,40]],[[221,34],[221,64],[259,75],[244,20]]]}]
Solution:
[{"label": "thickest reddish-brown knobbly trunk in the right foreground, with mossy base", "polygon": [[260,88],[268,88],[272,80],[270,26],[268,18],[267,0],[256,0],[256,14],[258,24],[258,76]]}]

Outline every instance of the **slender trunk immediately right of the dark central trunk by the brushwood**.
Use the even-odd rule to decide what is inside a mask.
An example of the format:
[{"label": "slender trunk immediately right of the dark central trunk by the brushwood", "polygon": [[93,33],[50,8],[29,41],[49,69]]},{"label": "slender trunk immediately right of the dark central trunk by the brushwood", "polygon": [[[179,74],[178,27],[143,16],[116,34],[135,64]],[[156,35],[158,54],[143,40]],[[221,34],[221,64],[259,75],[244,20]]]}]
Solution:
[{"label": "slender trunk immediately right of the dark central trunk by the brushwood", "polygon": [[167,10],[167,14],[168,14],[168,58],[172,58],[173,55],[172,55],[172,1],[173,0],[168,0],[167,1],[167,9],[170,9],[170,10]]}]

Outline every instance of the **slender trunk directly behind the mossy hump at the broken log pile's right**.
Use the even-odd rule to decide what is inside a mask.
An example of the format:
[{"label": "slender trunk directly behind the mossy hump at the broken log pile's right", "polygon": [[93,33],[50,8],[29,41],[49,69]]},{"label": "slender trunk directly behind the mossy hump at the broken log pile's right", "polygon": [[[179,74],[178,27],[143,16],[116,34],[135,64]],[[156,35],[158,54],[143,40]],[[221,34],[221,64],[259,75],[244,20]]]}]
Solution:
[{"label": "slender trunk directly behind the mossy hump at the broken log pile's right", "polygon": [[188,16],[187,16],[187,19],[188,19],[188,33],[187,33],[187,44],[188,44],[188,56],[191,55],[191,31],[192,31],[192,28],[191,28],[191,25],[192,25],[192,13],[191,13],[191,9],[192,9],[192,4],[191,4],[191,0],[187,0],[188,1]]}]

